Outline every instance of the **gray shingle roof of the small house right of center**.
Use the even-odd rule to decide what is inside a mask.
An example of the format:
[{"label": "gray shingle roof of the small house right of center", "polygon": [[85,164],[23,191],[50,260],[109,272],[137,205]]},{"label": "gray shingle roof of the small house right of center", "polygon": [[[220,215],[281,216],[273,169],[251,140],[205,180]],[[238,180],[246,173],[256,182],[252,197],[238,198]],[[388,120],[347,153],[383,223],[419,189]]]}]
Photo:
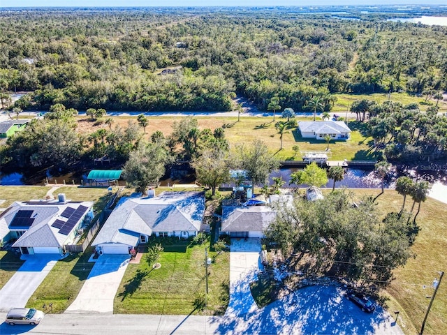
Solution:
[{"label": "gray shingle roof of the small house right of center", "polygon": [[253,232],[265,230],[276,213],[267,206],[223,207],[222,232]]}]

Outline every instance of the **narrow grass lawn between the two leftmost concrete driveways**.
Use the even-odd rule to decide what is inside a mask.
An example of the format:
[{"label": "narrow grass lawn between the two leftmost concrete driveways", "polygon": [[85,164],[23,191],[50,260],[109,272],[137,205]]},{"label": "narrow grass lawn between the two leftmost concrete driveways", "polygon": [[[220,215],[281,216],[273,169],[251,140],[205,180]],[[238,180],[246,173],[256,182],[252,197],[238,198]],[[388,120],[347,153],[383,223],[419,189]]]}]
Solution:
[{"label": "narrow grass lawn between the two leftmost concrete driveways", "polygon": [[27,307],[42,309],[44,304],[52,303],[51,313],[63,313],[76,299],[89,276],[94,265],[94,262],[87,262],[91,253],[91,248],[87,248],[82,255],[69,255],[59,260],[29,298]]}]

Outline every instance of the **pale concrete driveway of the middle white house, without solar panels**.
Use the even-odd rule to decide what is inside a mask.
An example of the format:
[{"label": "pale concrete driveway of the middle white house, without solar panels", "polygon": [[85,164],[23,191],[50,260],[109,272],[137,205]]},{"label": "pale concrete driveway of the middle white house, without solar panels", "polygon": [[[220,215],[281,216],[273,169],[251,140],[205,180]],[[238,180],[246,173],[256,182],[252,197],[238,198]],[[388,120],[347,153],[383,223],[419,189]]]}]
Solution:
[{"label": "pale concrete driveway of the middle white house, without solar panels", "polygon": [[113,299],[129,260],[129,255],[101,255],[65,313],[113,313]]}]

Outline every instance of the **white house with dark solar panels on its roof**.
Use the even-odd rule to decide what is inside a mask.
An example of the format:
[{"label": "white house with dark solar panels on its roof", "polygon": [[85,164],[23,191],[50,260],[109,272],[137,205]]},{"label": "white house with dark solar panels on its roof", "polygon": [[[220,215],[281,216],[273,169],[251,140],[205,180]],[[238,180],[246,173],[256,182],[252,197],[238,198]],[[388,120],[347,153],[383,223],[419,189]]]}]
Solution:
[{"label": "white house with dark solar panels on its roof", "polygon": [[[64,246],[75,243],[85,221],[93,218],[93,202],[31,200],[14,202],[0,215],[0,227],[8,227],[8,239],[24,255],[63,254]],[[4,230],[4,229],[1,229]]]}]

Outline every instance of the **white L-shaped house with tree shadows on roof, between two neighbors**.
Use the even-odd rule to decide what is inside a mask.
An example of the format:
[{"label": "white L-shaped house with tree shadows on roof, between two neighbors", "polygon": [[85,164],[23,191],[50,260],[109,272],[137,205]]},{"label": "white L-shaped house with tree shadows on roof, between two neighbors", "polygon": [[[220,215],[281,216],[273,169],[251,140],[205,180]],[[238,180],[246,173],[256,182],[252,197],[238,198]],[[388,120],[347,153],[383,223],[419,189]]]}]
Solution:
[{"label": "white L-shaped house with tree shadows on roof, between two neighbors", "polygon": [[203,192],[163,192],[156,198],[123,198],[92,246],[99,253],[129,253],[149,236],[196,236],[205,214]]}]

